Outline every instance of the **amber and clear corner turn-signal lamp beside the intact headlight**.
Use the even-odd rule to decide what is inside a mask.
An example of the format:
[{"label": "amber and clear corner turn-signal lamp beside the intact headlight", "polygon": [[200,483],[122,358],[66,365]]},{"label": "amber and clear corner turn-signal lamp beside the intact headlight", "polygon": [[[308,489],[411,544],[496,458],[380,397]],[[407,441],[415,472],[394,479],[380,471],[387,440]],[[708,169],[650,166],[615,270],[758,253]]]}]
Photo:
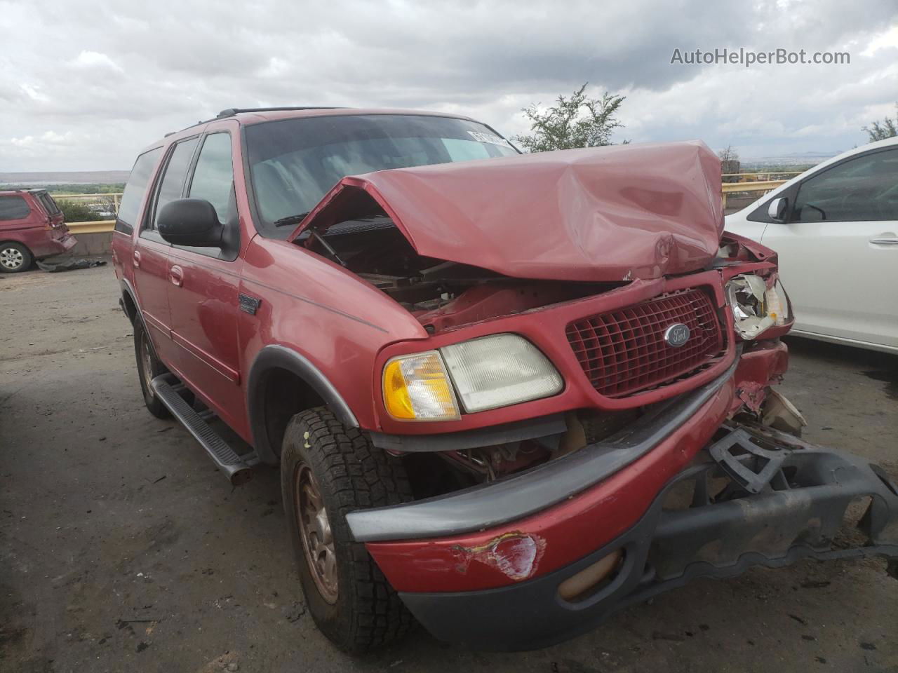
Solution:
[{"label": "amber and clear corner turn-signal lamp beside the intact headlight", "polygon": [[443,358],[436,351],[395,357],[383,368],[383,404],[401,421],[459,417]]}]

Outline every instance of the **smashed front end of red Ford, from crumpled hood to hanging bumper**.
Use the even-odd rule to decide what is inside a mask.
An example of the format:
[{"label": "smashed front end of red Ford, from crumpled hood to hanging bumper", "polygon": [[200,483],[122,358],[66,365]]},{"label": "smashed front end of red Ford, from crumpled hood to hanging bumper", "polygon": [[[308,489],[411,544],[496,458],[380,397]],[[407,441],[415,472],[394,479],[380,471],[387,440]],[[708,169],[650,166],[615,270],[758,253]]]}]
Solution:
[{"label": "smashed front end of red Ford, from crumpled hood to hanging bumper", "polygon": [[898,557],[895,485],[772,388],[788,295],[718,185],[695,144],[551,153],[343,179],[298,227],[421,325],[366,428],[416,500],[348,524],[437,637],[530,649],[693,577]]}]

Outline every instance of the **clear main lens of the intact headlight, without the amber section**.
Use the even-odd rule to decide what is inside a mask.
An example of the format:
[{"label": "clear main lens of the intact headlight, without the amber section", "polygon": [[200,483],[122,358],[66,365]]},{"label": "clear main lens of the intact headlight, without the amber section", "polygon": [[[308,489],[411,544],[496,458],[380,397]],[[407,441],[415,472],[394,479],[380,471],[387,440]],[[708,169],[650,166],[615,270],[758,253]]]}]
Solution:
[{"label": "clear main lens of the intact headlight, without the amber section", "polygon": [[564,388],[564,380],[549,358],[515,334],[447,345],[440,353],[469,413],[548,398]]}]

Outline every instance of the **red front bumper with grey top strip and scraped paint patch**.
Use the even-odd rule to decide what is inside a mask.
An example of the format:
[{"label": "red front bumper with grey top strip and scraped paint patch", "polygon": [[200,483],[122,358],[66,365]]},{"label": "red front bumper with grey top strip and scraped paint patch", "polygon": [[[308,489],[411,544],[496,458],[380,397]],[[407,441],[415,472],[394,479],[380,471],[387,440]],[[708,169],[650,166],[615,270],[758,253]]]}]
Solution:
[{"label": "red front bumper with grey top strip and scraped paint patch", "polygon": [[634,526],[718,432],[736,366],[621,433],[519,475],[350,512],[352,535],[398,591],[493,589],[567,566]]}]

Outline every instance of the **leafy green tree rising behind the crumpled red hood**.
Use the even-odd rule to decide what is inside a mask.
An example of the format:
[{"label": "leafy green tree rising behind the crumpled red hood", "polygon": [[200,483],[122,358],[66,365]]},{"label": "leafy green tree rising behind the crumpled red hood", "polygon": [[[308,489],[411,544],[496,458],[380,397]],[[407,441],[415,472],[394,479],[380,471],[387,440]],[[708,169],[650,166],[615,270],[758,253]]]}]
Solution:
[{"label": "leafy green tree rising behind the crumpled red hood", "polygon": [[604,92],[601,98],[589,98],[585,90],[586,84],[569,98],[559,96],[544,112],[536,105],[524,108],[532,133],[515,135],[512,140],[528,152],[612,144],[612,132],[623,127],[616,114],[626,96]]}]

